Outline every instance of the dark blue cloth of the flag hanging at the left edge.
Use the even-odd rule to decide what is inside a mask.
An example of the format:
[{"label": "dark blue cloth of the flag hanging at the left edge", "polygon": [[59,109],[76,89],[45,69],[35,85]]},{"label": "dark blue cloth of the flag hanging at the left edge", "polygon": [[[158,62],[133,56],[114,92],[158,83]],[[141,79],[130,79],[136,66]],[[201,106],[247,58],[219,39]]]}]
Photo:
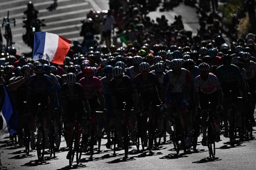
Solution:
[{"label": "dark blue cloth of the flag hanging at the left edge", "polygon": [[18,117],[17,117],[17,112],[12,109],[12,102],[5,86],[4,86],[4,94],[5,94],[5,97],[4,97],[4,105],[2,107],[2,113],[3,113],[4,119],[6,120],[9,134],[12,135],[17,132]]}]

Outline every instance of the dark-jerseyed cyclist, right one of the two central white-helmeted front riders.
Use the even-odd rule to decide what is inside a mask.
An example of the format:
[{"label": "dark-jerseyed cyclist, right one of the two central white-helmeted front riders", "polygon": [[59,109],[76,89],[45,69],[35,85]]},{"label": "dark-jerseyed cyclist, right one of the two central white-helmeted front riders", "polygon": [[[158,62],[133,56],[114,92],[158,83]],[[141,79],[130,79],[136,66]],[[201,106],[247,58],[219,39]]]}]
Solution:
[{"label": "dark-jerseyed cyclist, right one of the two central white-helmeted front riders", "polygon": [[[151,121],[152,112],[156,112],[156,105],[161,104],[161,100],[158,93],[161,93],[161,85],[157,76],[154,73],[149,73],[149,64],[146,62],[140,63],[140,74],[134,78],[134,85],[138,91],[140,97],[140,108],[142,110],[142,126],[144,136],[144,146],[147,146],[147,123]],[[160,110],[160,108],[159,108]],[[162,120],[162,117],[156,115],[158,120]],[[156,121],[158,121],[156,120]],[[159,122],[161,124],[161,122]],[[162,132],[162,129],[157,129],[158,134]]]}]

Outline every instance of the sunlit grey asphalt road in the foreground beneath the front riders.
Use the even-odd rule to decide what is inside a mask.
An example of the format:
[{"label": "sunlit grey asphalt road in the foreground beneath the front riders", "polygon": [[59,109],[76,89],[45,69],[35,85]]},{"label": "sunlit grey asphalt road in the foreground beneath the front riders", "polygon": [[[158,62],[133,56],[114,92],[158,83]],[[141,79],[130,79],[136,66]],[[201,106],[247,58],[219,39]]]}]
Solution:
[{"label": "sunlit grey asphalt road in the foreground beneath the front riders", "polygon": [[256,140],[255,130],[253,139],[236,143],[234,147],[229,145],[229,139],[221,135],[221,141],[216,143],[216,158],[208,158],[208,148],[200,144],[202,137],[198,139],[198,152],[191,150],[184,154],[176,154],[173,144],[167,137],[167,143],[149,152],[137,151],[136,146],[129,147],[129,158],[124,160],[124,150],[118,150],[116,157],[113,151],[107,149],[106,138],[102,139],[101,152],[97,153],[95,146],[93,160],[89,160],[88,154],[83,154],[81,163],[71,168],[68,166],[66,155],[68,149],[64,139],[61,140],[60,151],[56,158],[45,155],[43,162],[37,161],[36,151],[31,151],[29,156],[24,156],[24,148],[11,145],[8,139],[0,142],[2,152],[1,160],[4,169],[255,169],[256,167]]}]

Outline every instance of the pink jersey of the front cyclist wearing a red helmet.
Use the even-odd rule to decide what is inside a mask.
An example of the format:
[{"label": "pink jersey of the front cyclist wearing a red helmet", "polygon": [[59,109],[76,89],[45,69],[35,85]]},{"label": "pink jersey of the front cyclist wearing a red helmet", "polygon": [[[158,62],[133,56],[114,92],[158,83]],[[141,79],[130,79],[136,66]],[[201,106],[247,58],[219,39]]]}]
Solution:
[{"label": "pink jersey of the front cyclist wearing a red helmet", "polygon": [[84,94],[89,99],[97,96],[97,92],[103,93],[101,81],[97,77],[93,77],[91,84],[87,84],[85,78],[80,79],[78,83],[83,86]]}]

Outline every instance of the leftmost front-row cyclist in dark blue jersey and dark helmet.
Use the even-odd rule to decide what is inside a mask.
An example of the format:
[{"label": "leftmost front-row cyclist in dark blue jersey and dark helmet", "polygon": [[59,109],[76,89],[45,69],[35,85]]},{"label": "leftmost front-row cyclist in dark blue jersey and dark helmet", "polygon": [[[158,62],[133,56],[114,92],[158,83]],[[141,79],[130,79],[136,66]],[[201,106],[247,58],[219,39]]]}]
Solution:
[{"label": "leftmost front-row cyclist in dark blue jersey and dark helmet", "polygon": [[[52,78],[48,75],[44,75],[44,66],[37,64],[34,68],[35,75],[32,75],[28,79],[28,90],[27,90],[27,106],[29,112],[29,130],[30,130],[30,147],[32,150],[35,149],[35,117],[37,112],[37,105],[40,103],[43,112],[40,117],[43,117],[44,123],[44,140],[45,148],[49,147],[48,134],[50,126],[50,113],[54,107],[55,93],[54,83]],[[54,129],[56,130],[56,129]],[[55,133],[56,134],[56,133]]]}]

